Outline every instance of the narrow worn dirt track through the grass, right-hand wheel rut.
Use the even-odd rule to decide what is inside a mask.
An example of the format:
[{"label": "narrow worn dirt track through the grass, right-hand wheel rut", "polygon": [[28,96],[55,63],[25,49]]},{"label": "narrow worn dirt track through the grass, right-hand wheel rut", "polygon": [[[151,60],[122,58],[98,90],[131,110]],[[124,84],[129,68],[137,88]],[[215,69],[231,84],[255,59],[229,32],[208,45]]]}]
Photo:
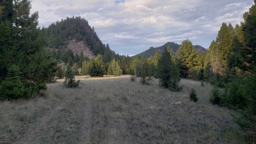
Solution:
[{"label": "narrow worn dirt track through the grass, right-hand wheel rut", "polygon": [[84,106],[84,123],[80,134],[79,143],[90,143],[92,128],[92,95],[89,94]]}]

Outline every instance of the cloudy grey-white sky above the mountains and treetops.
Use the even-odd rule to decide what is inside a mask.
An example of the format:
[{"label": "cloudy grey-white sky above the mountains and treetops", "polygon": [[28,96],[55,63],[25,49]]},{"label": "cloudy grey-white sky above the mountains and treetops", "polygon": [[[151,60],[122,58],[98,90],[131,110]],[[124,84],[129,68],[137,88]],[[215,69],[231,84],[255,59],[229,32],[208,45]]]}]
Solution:
[{"label": "cloudy grey-white sky above the mountains and treetops", "polygon": [[103,44],[121,55],[134,55],[167,42],[209,47],[222,22],[243,21],[253,0],[32,0],[39,26],[81,16]]}]

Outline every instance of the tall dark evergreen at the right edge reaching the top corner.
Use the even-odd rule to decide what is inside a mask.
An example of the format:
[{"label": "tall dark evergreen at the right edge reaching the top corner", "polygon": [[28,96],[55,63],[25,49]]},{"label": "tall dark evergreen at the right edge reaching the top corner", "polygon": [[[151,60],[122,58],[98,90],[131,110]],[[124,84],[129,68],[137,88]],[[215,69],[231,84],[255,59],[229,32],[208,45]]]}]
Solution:
[{"label": "tall dark evergreen at the right edge reaching the top corner", "polygon": [[[254,3],[256,3],[254,1]],[[228,55],[229,68],[239,68],[250,75],[256,73],[256,5],[244,13],[244,22],[236,26],[235,38]]]}]

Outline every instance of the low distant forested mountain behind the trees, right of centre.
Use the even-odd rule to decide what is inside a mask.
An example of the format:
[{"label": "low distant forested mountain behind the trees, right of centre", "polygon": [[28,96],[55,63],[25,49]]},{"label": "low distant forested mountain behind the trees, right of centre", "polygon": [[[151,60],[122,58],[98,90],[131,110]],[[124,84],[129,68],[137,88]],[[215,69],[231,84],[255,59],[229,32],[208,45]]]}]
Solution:
[{"label": "low distant forested mountain behind the trees, right of centre", "polygon": [[[168,46],[170,46],[172,48],[174,53],[177,52],[178,49],[180,48],[180,44],[168,42],[168,43],[166,43],[162,46],[156,47],[156,48],[150,47],[148,50],[141,52],[138,55],[140,55],[140,56],[144,55],[146,58],[149,58],[150,56],[154,56],[156,50],[161,54],[164,51],[164,48],[168,47]],[[197,51],[199,51],[200,53],[207,52],[207,50],[204,47],[202,47],[200,45],[195,45],[195,52],[197,52]]]}]

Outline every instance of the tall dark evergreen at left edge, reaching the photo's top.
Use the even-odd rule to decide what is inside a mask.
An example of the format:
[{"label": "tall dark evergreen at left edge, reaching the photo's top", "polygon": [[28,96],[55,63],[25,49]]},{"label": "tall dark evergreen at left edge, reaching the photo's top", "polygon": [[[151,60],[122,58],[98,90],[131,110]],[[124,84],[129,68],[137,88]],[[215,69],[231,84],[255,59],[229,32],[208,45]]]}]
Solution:
[{"label": "tall dark evergreen at left edge, reaching the photo's top", "polygon": [[30,14],[31,2],[27,0],[4,2],[0,12],[0,81],[15,64],[23,86],[30,89],[26,96],[38,93],[47,88],[46,81],[56,72],[52,53],[44,49],[44,31],[37,28],[38,12]]}]

